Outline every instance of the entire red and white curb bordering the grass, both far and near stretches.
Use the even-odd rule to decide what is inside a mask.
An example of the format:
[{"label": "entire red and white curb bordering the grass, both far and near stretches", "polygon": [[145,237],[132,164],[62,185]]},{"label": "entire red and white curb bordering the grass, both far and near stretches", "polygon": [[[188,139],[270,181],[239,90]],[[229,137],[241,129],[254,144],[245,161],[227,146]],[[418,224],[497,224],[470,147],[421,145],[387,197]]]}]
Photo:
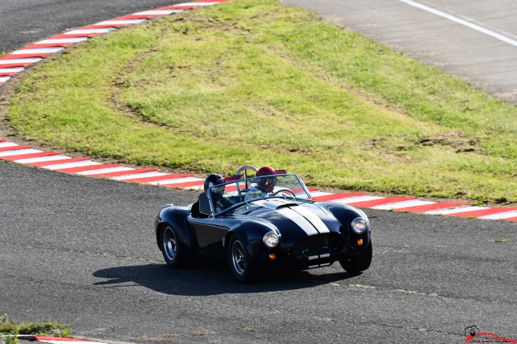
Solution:
[{"label": "entire red and white curb bordering the grass, both far and near stretches", "polygon": [[[216,5],[226,1],[228,0],[199,0],[136,12],[49,37],[0,58],[0,84],[5,83],[11,75],[23,71],[26,65],[38,62],[49,54],[57,53],[69,44],[82,42],[104,32],[116,30],[118,27],[140,24],[149,18],[170,15],[200,6]],[[204,183],[204,179],[196,178],[193,174],[170,174],[162,173],[154,168],[134,169],[119,164],[103,164],[89,158],[72,158],[58,152],[39,151],[31,146],[18,145],[3,138],[0,138],[0,159],[60,172],[174,188],[201,190]],[[309,189],[309,191],[314,201],[333,201],[361,208],[517,221],[517,207],[478,207],[472,206],[468,202],[440,203],[421,201],[416,197],[380,197],[370,196],[364,192],[331,193],[314,188]]]}]

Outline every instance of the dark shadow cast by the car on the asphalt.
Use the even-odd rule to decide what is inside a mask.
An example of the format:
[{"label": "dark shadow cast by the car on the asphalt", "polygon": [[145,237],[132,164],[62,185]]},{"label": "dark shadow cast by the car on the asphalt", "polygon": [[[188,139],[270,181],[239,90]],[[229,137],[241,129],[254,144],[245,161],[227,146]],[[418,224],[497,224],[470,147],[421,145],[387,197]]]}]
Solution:
[{"label": "dark shadow cast by the car on the asphalt", "polygon": [[262,283],[240,284],[225,266],[201,265],[195,269],[174,270],[166,264],[146,264],[101,269],[95,271],[93,275],[108,279],[108,281],[94,283],[96,286],[139,285],[166,294],[205,296],[311,288],[323,284],[339,283],[359,274],[345,271],[327,274],[283,271],[265,276]]}]

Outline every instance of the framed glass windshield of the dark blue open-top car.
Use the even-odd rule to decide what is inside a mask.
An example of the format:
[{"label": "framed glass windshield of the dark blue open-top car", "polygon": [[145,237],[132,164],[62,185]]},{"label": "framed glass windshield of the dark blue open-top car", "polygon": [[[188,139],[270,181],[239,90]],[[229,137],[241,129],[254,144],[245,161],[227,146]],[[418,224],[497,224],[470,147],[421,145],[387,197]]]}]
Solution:
[{"label": "framed glass windshield of the dark blue open-top car", "polygon": [[214,214],[237,204],[262,198],[311,199],[296,174],[240,179],[236,182],[212,186],[208,190]]}]

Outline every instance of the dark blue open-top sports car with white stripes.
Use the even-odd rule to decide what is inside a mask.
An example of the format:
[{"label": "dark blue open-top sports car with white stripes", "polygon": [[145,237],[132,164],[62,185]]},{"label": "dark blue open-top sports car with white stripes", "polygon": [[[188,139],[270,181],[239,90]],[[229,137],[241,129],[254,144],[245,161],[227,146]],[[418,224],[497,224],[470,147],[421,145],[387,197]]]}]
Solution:
[{"label": "dark blue open-top sports car with white stripes", "polygon": [[296,174],[270,167],[244,166],[229,178],[210,174],[195,203],[159,212],[155,231],[170,267],[203,258],[226,261],[243,283],[270,269],[313,269],[339,260],[356,273],[372,261],[370,222],[362,210],[314,202]]}]

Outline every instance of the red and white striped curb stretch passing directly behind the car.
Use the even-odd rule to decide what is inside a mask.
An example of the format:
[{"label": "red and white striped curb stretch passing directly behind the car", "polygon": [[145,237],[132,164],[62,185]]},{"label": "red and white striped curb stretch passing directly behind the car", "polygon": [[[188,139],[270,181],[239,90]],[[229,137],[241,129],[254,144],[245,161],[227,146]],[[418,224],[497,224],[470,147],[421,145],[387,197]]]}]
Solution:
[{"label": "red and white striped curb stretch passing directly behind the car", "polygon": [[[203,189],[204,179],[193,174],[163,173],[155,168],[134,169],[120,164],[72,158],[59,152],[44,152],[0,138],[0,159],[72,174],[104,177],[116,181],[161,185],[181,189]],[[227,187],[230,190],[231,186]],[[419,212],[480,219],[517,221],[517,207],[478,207],[468,202],[431,202],[416,197],[370,196],[364,192],[332,193],[309,188],[314,201],[332,201],[360,208]]]}]

